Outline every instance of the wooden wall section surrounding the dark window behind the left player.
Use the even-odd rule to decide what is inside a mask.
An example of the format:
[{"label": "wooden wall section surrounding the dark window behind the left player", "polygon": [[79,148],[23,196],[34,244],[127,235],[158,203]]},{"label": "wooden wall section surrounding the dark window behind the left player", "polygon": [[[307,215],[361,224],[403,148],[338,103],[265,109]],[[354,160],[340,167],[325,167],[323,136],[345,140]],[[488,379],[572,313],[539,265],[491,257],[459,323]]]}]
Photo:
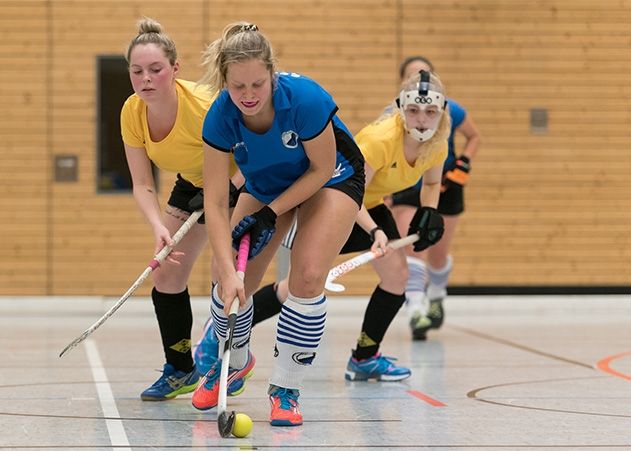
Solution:
[{"label": "wooden wall section surrounding the dark window behind the left player", "polygon": [[[79,157],[79,181],[53,186],[54,293],[120,296],[151,259],[153,235],[131,194],[96,193],[96,57],[123,55],[142,16],[160,21],[175,40],[182,77],[198,76],[202,2],[158,0],[52,3],[54,24],[53,147]],[[164,203],[173,174],[160,175]],[[191,280],[199,292],[209,272],[200,259]],[[206,277],[207,278],[207,277]],[[147,282],[137,294],[148,294]]]}]

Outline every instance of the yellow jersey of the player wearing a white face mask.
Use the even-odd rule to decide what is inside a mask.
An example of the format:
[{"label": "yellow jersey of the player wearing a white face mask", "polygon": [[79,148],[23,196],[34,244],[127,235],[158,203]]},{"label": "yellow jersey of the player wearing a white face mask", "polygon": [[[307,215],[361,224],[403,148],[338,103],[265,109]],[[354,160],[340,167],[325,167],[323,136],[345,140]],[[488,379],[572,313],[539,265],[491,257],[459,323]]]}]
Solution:
[{"label": "yellow jersey of the player wearing a white face mask", "polygon": [[403,153],[405,127],[400,115],[394,114],[364,127],[355,141],[375,174],[366,185],[364,205],[370,209],[383,203],[384,196],[415,185],[423,173],[433,166],[442,166],[447,158],[447,140],[423,149],[414,166]]}]

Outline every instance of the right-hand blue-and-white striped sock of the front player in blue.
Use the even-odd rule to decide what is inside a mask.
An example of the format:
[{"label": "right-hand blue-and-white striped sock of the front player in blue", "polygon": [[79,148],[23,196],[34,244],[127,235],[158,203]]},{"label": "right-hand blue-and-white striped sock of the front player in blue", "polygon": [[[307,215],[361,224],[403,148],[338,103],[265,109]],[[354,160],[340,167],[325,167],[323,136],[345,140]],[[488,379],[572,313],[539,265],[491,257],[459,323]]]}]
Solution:
[{"label": "right-hand blue-and-white striped sock of the front player in blue", "polygon": [[275,366],[270,384],[300,389],[313,363],[326,323],[326,296],[305,299],[289,293],[278,318]]}]

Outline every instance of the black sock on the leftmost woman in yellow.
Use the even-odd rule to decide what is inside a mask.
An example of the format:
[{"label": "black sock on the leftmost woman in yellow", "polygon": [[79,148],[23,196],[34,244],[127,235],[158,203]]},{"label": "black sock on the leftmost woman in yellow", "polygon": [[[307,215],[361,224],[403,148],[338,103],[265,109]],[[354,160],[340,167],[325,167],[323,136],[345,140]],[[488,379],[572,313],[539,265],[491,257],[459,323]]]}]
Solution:
[{"label": "black sock on the leftmost woman in yellow", "polygon": [[151,291],[153,307],[158,318],[162,347],[167,363],[176,370],[189,372],[195,365],[191,354],[193,312],[188,288],[181,293]]}]

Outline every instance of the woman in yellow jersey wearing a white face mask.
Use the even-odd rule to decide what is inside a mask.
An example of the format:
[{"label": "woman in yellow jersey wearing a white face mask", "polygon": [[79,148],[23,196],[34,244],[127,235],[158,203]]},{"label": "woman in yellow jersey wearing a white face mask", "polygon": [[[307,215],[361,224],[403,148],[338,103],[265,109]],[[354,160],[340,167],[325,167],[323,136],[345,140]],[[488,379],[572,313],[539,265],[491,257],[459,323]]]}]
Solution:
[{"label": "woman in yellow jersey wearing a white face mask", "polygon": [[[390,323],[405,302],[408,267],[403,249],[386,250],[389,239],[400,238],[384,197],[413,186],[423,177],[418,208],[409,224],[409,234],[418,233],[414,248],[420,251],[436,244],[444,230],[436,210],[440,197],[442,168],[447,157],[450,116],[443,85],[435,74],[422,71],[404,84],[397,106],[362,129],[355,140],[366,160],[366,192],[351,235],[341,253],[385,250],[371,263],[379,275],[357,341],[349,359],[347,380],[399,381],[410,376],[379,353]],[[286,280],[274,289],[261,288],[254,295],[256,324],[280,310],[287,293]]]}]

